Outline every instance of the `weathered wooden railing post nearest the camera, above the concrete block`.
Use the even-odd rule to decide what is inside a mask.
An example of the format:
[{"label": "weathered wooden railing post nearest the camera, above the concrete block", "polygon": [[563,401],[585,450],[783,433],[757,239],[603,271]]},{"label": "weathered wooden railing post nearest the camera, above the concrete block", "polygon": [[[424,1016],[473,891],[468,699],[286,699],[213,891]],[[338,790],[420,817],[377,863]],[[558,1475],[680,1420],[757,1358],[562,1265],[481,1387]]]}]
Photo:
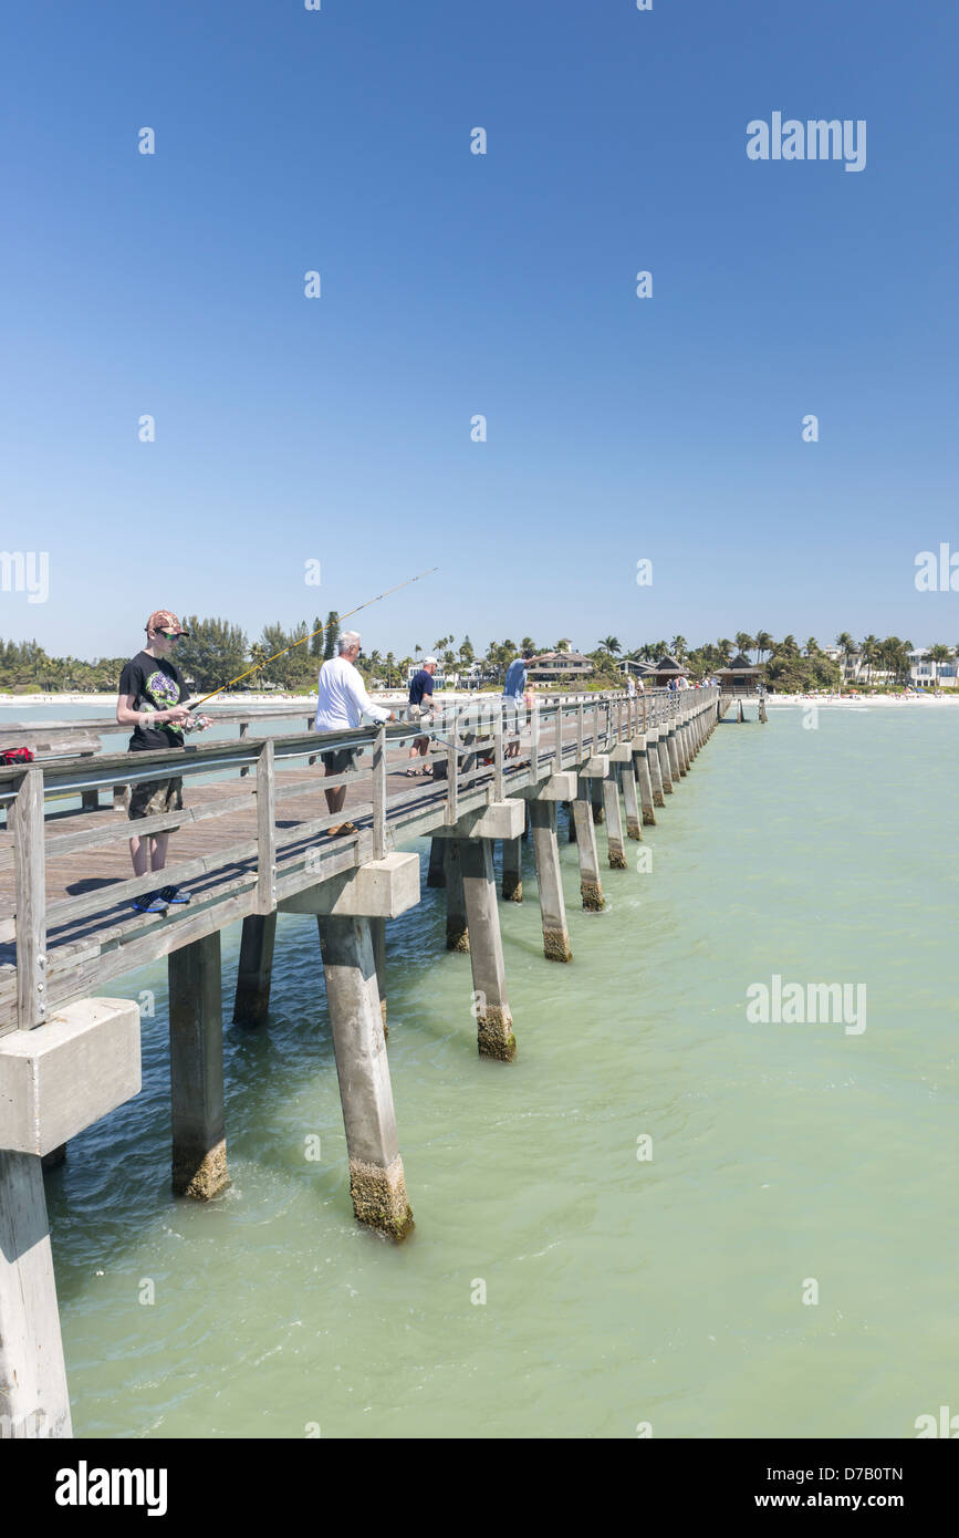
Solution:
[{"label": "weathered wooden railing post nearest the camera, above the concrete block", "polygon": [[43,769],[28,769],[12,804],[17,901],[17,1026],[46,1021],[46,869]]}]

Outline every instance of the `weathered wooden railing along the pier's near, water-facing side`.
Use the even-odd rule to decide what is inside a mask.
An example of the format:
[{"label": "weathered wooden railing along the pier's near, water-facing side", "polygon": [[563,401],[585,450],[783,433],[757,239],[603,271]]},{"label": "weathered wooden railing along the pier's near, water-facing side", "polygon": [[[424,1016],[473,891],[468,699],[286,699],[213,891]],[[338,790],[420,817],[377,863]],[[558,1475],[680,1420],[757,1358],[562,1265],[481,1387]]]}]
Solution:
[{"label": "weathered wooden railing along the pier's near, water-facing side", "polygon": [[[398,723],[357,727],[335,734],[280,734],[237,741],[187,743],[183,749],[158,752],[106,752],[89,757],[46,758],[28,767],[0,767],[0,807],[8,811],[8,831],[0,834],[0,1034],[34,1027],[46,1021],[51,1007],[69,998],[94,994],[97,986],[134,966],[144,964],[200,934],[232,923],[246,914],[269,914],[283,898],[349,869],[364,860],[381,858],[398,841],[452,824],[458,817],[489,800],[535,784],[562,767],[582,764],[590,755],[604,754],[653,726],[664,726],[692,704],[712,704],[718,689],[665,689],[532,697],[532,709],[512,709],[499,695],[478,695],[464,704],[443,707],[438,698],[432,723]],[[504,709],[507,704],[507,709]],[[243,727],[254,717],[229,712]],[[270,712],[278,717],[303,715],[303,709]],[[310,715],[312,723],[312,715]],[[68,723],[68,727],[74,723]],[[78,734],[89,734],[92,723],[75,723]],[[98,723],[97,723],[98,724]],[[112,723],[115,729],[115,723]],[[65,727],[60,727],[65,731]],[[519,757],[507,757],[506,744],[519,740]],[[416,737],[430,738],[426,760],[433,781],[387,797],[387,757]],[[340,747],[363,749],[366,763],[333,777],[303,777],[284,784],[284,771],[304,769],[320,752]],[[407,763],[403,755],[395,767]],[[227,781],[247,775],[237,794],[220,794],[209,801],[184,806],[180,812],[128,821],[114,807],[88,815],[83,826],[69,823],[85,815],[91,798],[123,781],[168,780],[181,775],[197,781],[214,777],[226,792]],[[346,815],[357,832],[317,843],[344,814],[309,817],[283,827],[287,798],[317,795],[337,786],[361,791]],[[46,815],[48,804],[65,797],[80,797],[77,811]],[[320,803],[323,804],[323,803]],[[201,883],[189,906],[168,914],[129,912],[132,900],[155,891],[158,874],[148,872],[114,881],[105,891],[48,901],[46,866],[63,855],[91,855],[131,835],[186,829],[220,820],[229,827],[237,814],[255,812],[254,827],[212,854],[183,860],[163,871],[163,884]],[[280,817],[280,823],[278,823]],[[65,831],[66,829],[66,831]],[[95,875],[95,871],[91,871]],[[117,907],[126,912],[115,914]],[[11,947],[15,946],[15,961]]]}]

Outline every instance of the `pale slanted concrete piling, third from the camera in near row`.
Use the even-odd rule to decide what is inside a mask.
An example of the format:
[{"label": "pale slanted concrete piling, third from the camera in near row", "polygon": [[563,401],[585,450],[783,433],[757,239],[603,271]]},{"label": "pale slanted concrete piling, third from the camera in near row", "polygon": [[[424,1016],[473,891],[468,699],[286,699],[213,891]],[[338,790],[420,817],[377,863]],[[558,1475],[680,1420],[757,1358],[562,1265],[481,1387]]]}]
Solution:
[{"label": "pale slanted concrete piling, third from the camera in near row", "polygon": [[510,1063],[516,1052],[516,1038],[506,997],[493,851],[489,838],[458,838],[456,846],[470,932],[476,1044],[481,1057]]}]

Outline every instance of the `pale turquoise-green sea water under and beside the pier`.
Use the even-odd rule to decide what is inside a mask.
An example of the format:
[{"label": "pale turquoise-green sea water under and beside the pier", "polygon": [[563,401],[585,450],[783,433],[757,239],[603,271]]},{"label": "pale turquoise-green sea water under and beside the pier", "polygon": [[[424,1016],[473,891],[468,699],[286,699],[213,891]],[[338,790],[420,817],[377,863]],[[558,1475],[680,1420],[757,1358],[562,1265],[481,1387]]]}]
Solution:
[{"label": "pale turquoise-green sea water under and beside the pier", "polygon": [[[226,1026],[206,1207],[168,1189],[164,967],[112,989],[155,992],[143,1094],[48,1177],[77,1433],[914,1436],[954,1406],[959,709],[802,720],[722,726],[604,914],[562,844],[569,967],[524,854],[512,1066],[476,1057],[443,894],[390,924],[400,1249],[352,1220],[312,920],[280,920],[269,1027]],[[773,974],[865,984],[867,1029],[748,1023]]]}]

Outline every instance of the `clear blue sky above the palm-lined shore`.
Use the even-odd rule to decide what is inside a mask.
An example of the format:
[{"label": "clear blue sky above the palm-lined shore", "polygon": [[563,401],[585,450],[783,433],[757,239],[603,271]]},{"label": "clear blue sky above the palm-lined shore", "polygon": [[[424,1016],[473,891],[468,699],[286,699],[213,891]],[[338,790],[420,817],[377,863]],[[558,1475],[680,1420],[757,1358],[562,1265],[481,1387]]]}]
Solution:
[{"label": "clear blue sky above the palm-lined shore", "polygon": [[[49,598],[0,635],[252,640],[438,564],[367,647],[959,641],[913,583],[959,551],[957,43],[891,0],[20,8],[3,546]],[[748,160],[775,111],[865,118],[865,169]]]}]

